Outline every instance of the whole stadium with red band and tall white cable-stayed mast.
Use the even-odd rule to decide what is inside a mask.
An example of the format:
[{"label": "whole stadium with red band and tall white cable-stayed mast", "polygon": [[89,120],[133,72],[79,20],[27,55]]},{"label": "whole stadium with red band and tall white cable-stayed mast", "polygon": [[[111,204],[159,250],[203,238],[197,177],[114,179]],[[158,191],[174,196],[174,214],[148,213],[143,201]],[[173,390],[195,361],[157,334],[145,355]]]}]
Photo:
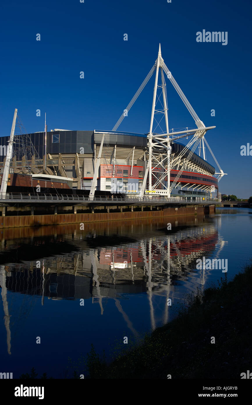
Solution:
[{"label": "whole stadium with red band and tall white cable-stayed mast", "polygon": [[[149,132],[140,134],[118,131],[154,72],[156,78]],[[158,85],[159,72],[161,85]],[[171,81],[197,128],[169,129],[164,74]],[[159,117],[156,119],[157,115]],[[160,126],[160,115],[165,120],[165,130]],[[11,136],[0,139],[2,195],[6,191],[25,192],[24,188],[26,191],[30,188],[29,192],[32,192],[36,187],[36,192],[64,188],[66,193],[68,189],[76,194],[75,190],[79,190],[79,194],[89,195],[90,200],[95,194],[104,193],[141,199],[162,196],[165,199],[180,197],[191,201],[211,201],[219,198],[218,181],[226,173],[220,168],[205,139],[207,131],[215,126],[207,127],[199,119],[165,65],[160,45],[154,66],[111,131],[47,131],[45,122],[44,132],[26,134],[22,131],[19,118],[16,123],[17,118],[15,109]],[[157,126],[154,128],[155,121]],[[20,128],[19,135],[15,135],[15,126]],[[159,128],[161,132],[157,133]],[[188,138],[186,145],[180,143],[180,139]],[[219,173],[206,161],[205,145]]]}]

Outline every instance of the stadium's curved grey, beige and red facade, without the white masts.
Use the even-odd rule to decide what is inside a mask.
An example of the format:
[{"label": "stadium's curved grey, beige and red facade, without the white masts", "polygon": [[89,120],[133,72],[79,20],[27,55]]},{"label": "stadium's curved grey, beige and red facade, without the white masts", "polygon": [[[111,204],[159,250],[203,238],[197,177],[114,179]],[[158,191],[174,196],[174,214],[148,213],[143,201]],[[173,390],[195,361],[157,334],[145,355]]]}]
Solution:
[{"label": "stadium's curved grey, beige and red facade, without the white masts", "polygon": [[[99,194],[99,191],[106,191],[139,195],[149,158],[147,134],[101,130],[51,130],[47,132],[46,158],[45,132],[15,135],[10,175],[12,173],[41,175],[42,173],[47,175],[47,179],[51,178],[54,181],[53,187],[55,187],[57,176],[61,179],[65,177],[68,183],[69,179],[72,179],[73,189],[90,190],[102,138],[104,142],[99,160],[96,194]],[[8,141],[8,136],[0,138],[1,173],[3,173],[5,160],[4,150],[8,147]],[[206,199],[216,197],[218,180],[214,177],[215,168],[206,160],[196,153],[191,153],[188,159],[191,151],[187,149],[176,166],[172,166],[173,160],[176,160],[184,149],[187,148],[183,144],[171,142],[170,185],[180,173],[186,160],[186,166],[183,167],[179,178],[176,179],[176,186],[172,189],[172,196],[186,196],[190,199],[195,199],[197,196],[203,196]],[[152,153],[155,155],[155,151]],[[160,150],[157,151],[156,156],[162,159]],[[160,162],[162,163],[162,160]],[[162,176],[163,167],[162,164],[160,166],[155,164],[155,168],[152,168],[152,183],[157,177]],[[147,179],[146,190],[148,181],[149,179]],[[159,184],[158,189],[160,194],[162,190],[167,189],[167,176]]]}]

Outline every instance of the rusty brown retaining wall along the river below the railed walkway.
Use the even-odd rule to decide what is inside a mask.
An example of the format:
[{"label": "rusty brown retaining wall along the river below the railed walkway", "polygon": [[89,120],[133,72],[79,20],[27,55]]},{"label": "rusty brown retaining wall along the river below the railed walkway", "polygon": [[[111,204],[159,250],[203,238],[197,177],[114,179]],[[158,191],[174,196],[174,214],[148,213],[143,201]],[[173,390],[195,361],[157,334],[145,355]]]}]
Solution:
[{"label": "rusty brown retaining wall along the river below the railed walkway", "polygon": [[[5,208],[5,207],[2,207]],[[42,225],[60,225],[60,224],[76,224],[85,222],[108,222],[108,221],[123,221],[144,218],[162,218],[174,217],[180,215],[192,214],[213,214],[215,213],[214,205],[184,205],[178,207],[165,206],[110,206],[110,207],[51,207],[53,214],[36,215],[34,208],[22,207],[21,215],[16,214],[17,207],[8,207],[8,214],[4,211],[0,220],[1,228],[15,228],[25,226],[42,226]],[[67,210],[64,212],[64,208]],[[74,213],[69,213],[71,208]],[[15,211],[13,210],[15,209]],[[41,207],[38,207],[41,212]],[[30,211],[28,211],[30,210]],[[78,212],[83,211],[83,212]],[[97,211],[97,212],[95,212]],[[100,211],[100,212],[99,212]],[[107,211],[107,212],[101,212]],[[30,215],[24,215],[30,212]],[[37,211],[39,212],[39,211]],[[2,212],[3,213],[3,212]],[[22,215],[23,214],[23,215]]]}]

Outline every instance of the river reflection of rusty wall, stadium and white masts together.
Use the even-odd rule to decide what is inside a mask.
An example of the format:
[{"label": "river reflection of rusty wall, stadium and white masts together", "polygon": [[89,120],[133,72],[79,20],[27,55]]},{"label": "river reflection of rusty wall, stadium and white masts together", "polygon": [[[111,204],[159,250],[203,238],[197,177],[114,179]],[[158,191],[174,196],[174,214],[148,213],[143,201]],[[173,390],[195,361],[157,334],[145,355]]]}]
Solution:
[{"label": "river reflection of rusty wall, stadium and white masts together", "polygon": [[[19,321],[29,317],[32,297],[91,299],[104,313],[104,299],[115,301],[117,310],[132,334],[138,336],[123,309],[125,294],[146,293],[150,325],[169,320],[169,307],[155,307],[155,296],[181,298],[180,284],[195,290],[208,280],[210,270],[195,270],[196,260],[226,243],[218,233],[221,216],[190,215],[169,219],[123,223],[79,224],[10,229],[2,234],[0,285],[4,326],[11,354],[10,315],[7,291],[25,294]],[[194,276],[194,277],[192,277]],[[162,312],[162,313],[161,313]],[[23,315],[22,315],[23,314]],[[147,315],[146,315],[147,316]]]}]

